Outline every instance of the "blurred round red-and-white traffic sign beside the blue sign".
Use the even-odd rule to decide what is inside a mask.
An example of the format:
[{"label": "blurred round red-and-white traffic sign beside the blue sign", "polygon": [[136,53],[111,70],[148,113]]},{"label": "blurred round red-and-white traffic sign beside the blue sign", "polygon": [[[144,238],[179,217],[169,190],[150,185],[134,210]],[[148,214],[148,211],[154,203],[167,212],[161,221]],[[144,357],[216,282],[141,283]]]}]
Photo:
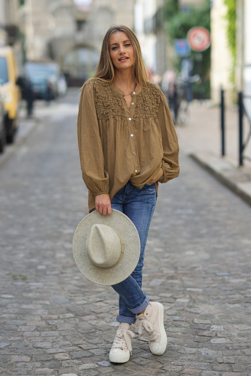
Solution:
[{"label": "blurred round red-and-white traffic sign beside the blue sign", "polygon": [[195,26],[187,33],[187,42],[191,50],[202,52],[210,46],[210,32],[202,26]]}]

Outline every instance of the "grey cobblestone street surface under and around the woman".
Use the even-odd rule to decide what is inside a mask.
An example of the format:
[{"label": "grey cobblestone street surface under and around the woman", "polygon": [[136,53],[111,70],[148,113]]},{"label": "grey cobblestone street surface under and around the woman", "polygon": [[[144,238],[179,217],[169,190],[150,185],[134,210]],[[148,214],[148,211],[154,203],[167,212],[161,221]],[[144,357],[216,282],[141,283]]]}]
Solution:
[{"label": "grey cobblestone street surface under and around the woman", "polygon": [[39,109],[0,168],[0,373],[251,375],[251,210],[182,150],[180,177],[160,186],[143,278],[164,305],[166,352],[137,336],[127,363],[108,361],[117,295],[86,280],[71,250],[87,214],[72,101]]}]

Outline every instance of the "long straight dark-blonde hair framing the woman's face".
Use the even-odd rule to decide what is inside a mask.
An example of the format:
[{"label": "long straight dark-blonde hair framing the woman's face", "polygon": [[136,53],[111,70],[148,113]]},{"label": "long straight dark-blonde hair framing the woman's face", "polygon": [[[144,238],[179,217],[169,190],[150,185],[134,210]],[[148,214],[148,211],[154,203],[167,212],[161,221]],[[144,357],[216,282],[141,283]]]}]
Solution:
[{"label": "long straight dark-blonde hair framing the woman's face", "polygon": [[141,48],[137,36],[131,29],[129,29],[129,27],[125,25],[112,25],[110,29],[108,29],[108,31],[106,32],[102,43],[99,63],[97,65],[96,72],[93,78],[100,78],[108,82],[114,80],[115,72],[113,62],[110,56],[110,39],[111,36],[118,31],[122,31],[123,33],[125,33],[128,39],[131,41],[132,46],[134,47],[135,58],[133,66],[133,76],[135,82],[138,85],[142,86],[144,83],[149,81],[147,74],[148,70],[146,68],[146,64],[141,53]]}]

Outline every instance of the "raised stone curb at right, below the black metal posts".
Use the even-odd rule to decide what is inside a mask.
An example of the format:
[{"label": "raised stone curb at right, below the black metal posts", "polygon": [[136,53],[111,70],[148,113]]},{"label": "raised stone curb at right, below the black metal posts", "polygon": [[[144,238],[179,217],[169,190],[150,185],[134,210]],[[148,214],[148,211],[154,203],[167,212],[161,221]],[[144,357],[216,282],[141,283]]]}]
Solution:
[{"label": "raised stone curb at right, below the black metal posts", "polygon": [[[208,158],[209,156],[209,158]],[[189,157],[193,161],[197,162],[201,167],[207,170],[212,176],[214,176],[220,183],[225,185],[228,189],[239,196],[243,201],[251,206],[251,182],[246,181],[238,183],[237,174],[242,174],[236,167],[230,164],[230,162],[224,159],[216,158],[212,155],[206,154],[189,154]],[[214,161],[212,161],[212,159]],[[213,163],[216,161],[216,164]],[[217,165],[218,161],[218,165]],[[243,186],[247,185],[248,189],[243,189]],[[250,188],[249,188],[250,186]],[[250,191],[250,193],[249,193]]]}]

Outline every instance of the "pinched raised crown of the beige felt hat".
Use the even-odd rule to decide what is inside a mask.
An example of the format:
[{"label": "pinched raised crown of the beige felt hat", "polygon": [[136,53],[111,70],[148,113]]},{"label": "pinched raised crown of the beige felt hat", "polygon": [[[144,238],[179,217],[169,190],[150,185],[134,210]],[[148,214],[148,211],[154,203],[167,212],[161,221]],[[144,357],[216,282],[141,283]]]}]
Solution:
[{"label": "pinched raised crown of the beige felt hat", "polygon": [[121,241],[116,230],[106,224],[94,224],[86,239],[87,254],[100,268],[110,268],[121,254]]}]

